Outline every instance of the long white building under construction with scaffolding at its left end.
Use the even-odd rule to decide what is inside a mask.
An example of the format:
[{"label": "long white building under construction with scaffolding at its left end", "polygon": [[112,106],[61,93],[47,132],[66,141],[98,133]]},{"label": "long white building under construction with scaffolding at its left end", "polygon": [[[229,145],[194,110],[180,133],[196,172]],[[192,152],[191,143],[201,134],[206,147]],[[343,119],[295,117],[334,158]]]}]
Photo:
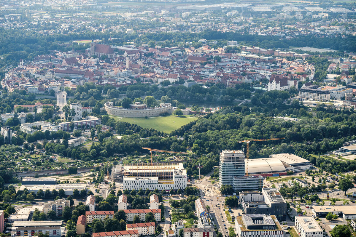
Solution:
[{"label": "long white building under construction with scaffolding at its left end", "polygon": [[114,176],[123,176],[124,190],[183,190],[187,187],[187,172],[183,163],[127,164],[121,172],[123,174]]}]

